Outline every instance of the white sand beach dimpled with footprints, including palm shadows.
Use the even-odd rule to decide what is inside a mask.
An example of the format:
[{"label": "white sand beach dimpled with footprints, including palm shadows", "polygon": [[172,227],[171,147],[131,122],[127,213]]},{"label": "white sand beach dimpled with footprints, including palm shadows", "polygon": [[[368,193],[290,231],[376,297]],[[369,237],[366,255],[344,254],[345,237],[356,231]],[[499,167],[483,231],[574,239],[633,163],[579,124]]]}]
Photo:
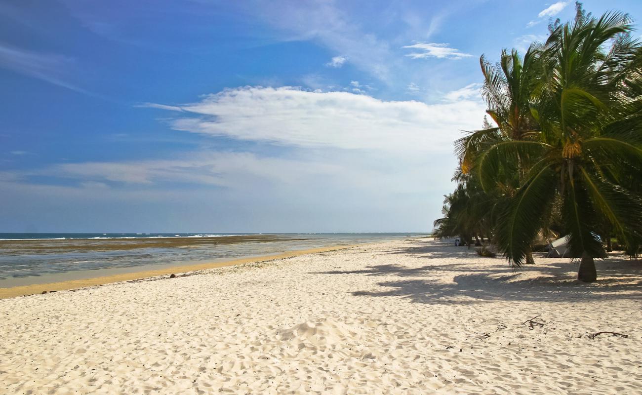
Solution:
[{"label": "white sand beach dimpled with footprints, including palm shadows", "polygon": [[0,392],[642,394],[642,265],[536,261],[416,239],[4,299]]}]

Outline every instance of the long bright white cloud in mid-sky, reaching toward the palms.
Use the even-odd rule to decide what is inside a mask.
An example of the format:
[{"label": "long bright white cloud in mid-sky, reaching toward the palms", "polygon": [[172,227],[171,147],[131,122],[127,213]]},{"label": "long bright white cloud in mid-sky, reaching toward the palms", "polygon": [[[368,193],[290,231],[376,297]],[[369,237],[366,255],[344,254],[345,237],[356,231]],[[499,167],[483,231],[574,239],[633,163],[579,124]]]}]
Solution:
[{"label": "long bright white cloud in mid-sky, reaching toward the palms", "polygon": [[476,101],[428,105],[293,87],[228,89],[180,109],[199,117],[174,119],[171,125],[178,130],[277,145],[400,153],[450,151],[458,130],[476,127],[483,115]]}]

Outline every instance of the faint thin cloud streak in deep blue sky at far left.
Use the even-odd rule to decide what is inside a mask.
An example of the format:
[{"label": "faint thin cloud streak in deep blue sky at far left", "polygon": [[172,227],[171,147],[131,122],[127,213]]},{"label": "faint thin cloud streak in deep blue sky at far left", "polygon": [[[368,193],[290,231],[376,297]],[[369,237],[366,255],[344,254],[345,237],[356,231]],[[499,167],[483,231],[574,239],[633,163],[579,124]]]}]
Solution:
[{"label": "faint thin cloud streak in deep blue sky at far left", "polygon": [[29,51],[0,42],[0,67],[12,70],[15,73],[38,78],[72,91],[89,93],[67,82],[65,76],[69,75],[73,65],[74,60],[71,57]]}]

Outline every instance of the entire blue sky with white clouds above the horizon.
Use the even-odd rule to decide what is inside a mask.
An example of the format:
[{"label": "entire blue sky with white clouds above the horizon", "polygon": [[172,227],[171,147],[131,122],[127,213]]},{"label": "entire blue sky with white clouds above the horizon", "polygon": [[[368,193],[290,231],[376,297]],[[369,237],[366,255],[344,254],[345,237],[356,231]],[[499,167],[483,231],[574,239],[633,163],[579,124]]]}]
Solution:
[{"label": "entire blue sky with white clouds above the horizon", "polygon": [[[628,12],[638,0],[584,1]],[[0,0],[0,232],[422,232],[568,1]],[[635,33],[636,35],[639,32]]]}]

